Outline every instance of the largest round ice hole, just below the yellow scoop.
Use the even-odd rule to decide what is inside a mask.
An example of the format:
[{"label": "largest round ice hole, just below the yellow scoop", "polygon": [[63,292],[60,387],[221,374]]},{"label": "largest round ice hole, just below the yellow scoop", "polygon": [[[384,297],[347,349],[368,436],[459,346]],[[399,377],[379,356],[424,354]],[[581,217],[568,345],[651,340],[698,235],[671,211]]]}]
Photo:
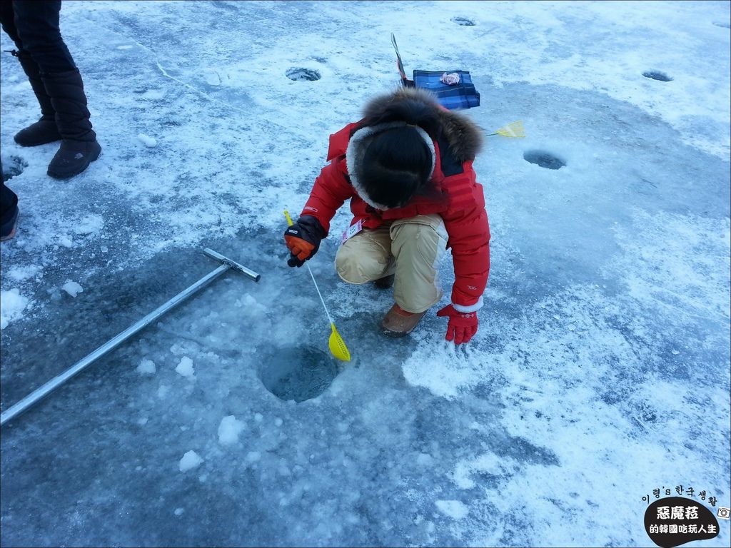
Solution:
[{"label": "largest round ice hole, just below the yellow scoop", "polygon": [[260,366],[259,378],[280,400],[311,400],[333,382],[338,368],[333,358],[311,346],[274,349]]}]

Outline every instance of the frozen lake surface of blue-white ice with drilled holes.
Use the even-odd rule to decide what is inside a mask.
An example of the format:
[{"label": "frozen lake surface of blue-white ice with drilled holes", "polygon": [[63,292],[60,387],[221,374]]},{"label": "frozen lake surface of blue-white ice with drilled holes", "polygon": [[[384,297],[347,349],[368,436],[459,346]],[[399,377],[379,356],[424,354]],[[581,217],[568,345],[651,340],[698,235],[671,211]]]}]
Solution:
[{"label": "frozen lake surface of blue-white ice with drilled holes", "polygon": [[[262,278],[227,273],[3,427],[1,544],[646,546],[656,488],[731,506],[730,18],[726,1],[64,3],[103,151],[48,178],[55,145],[12,140],[38,108],[2,54],[21,212],[2,409],[216,268],[202,248]],[[469,345],[438,308],[382,338],[390,292],[341,283],[339,238],[322,243],[343,365],[282,210],[329,134],[395,87],[392,31],[407,72],[469,70],[466,115],[528,137],[488,137],[474,164],[493,239]],[[704,547],[730,543],[719,521]]]}]

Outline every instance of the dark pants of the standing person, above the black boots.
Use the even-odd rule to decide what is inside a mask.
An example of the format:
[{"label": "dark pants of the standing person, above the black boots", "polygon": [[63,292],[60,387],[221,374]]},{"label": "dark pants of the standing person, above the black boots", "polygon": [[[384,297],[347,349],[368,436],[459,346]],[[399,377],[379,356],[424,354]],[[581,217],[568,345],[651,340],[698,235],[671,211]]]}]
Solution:
[{"label": "dark pants of the standing person, above the black boots", "polygon": [[76,68],[61,38],[61,0],[0,0],[0,23],[20,52],[28,53],[40,72],[54,74]]}]

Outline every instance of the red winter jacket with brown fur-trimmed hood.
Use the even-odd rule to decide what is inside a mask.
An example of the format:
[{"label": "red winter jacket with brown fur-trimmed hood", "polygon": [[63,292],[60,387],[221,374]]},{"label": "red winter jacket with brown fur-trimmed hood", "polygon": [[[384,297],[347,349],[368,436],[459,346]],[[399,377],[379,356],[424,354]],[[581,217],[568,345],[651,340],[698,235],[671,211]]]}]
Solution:
[{"label": "red winter jacket with brown fur-trimmed hood", "polygon": [[363,227],[374,229],[388,221],[417,215],[439,214],[452,248],[455,283],[452,304],[458,311],[475,311],[482,306],[482,293],[490,270],[490,228],[485,212],[482,185],[472,169],[474,153],[480,148],[480,130],[469,119],[442,109],[431,96],[413,89],[402,89],[393,95],[371,102],[366,114],[377,112],[393,100],[419,100],[433,103],[438,110],[442,136],[433,141],[435,165],[431,184],[436,193],[431,197],[415,197],[402,208],[377,210],[368,205],[350,182],[346,166],[348,143],[360,123],[349,123],[330,135],[327,164],[315,180],[302,215],[317,218],[325,232],[330,221],[346,199],[353,213],[351,225],[363,221]]}]

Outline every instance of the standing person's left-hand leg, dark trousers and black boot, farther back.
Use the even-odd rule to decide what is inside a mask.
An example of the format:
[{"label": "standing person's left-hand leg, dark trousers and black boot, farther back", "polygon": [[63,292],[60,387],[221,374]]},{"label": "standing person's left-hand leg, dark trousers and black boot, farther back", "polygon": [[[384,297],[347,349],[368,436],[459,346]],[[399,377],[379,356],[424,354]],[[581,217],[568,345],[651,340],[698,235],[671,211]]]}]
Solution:
[{"label": "standing person's left-hand leg, dark trousers and black boot, farther back", "polygon": [[23,49],[23,42],[18,37],[18,29],[15,28],[15,10],[12,8],[12,0],[0,0],[0,23],[5,33],[15,42],[15,47],[18,47],[17,51],[14,50],[11,53],[20,61],[20,66],[23,68],[26,76],[28,76],[33,93],[41,107],[40,120],[32,123],[25,129],[21,129],[15,135],[15,142],[20,146],[32,147],[60,140],[61,134],[58,133],[58,127],[56,127],[56,110],[53,110],[53,104],[51,104],[50,97],[45,91],[39,66],[33,60],[30,53]]}]

